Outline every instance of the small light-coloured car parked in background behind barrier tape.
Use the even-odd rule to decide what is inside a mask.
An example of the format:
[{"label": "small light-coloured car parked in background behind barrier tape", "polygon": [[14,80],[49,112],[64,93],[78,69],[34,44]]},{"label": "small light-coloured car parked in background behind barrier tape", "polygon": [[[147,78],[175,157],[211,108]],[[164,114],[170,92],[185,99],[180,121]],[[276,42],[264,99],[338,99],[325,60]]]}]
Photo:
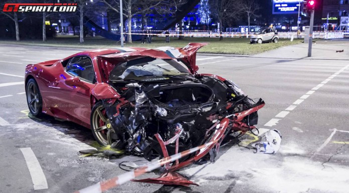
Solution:
[{"label": "small light-coloured car parked in background behind barrier tape", "polygon": [[261,28],[256,33],[251,36],[250,43],[266,43],[266,42],[279,42],[279,37],[277,36],[277,31],[273,28]]}]

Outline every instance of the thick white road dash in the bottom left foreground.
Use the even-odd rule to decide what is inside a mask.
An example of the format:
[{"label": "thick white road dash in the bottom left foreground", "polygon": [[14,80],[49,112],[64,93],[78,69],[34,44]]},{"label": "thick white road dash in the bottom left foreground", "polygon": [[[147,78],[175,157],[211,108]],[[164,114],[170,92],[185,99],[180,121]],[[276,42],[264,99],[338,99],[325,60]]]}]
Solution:
[{"label": "thick white road dash in the bottom left foreground", "polygon": [[26,159],[29,173],[32,177],[34,184],[34,189],[47,189],[47,180],[44,174],[43,169],[40,166],[38,159],[36,158],[32,148],[20,148],[23,153],[24,158]]}]

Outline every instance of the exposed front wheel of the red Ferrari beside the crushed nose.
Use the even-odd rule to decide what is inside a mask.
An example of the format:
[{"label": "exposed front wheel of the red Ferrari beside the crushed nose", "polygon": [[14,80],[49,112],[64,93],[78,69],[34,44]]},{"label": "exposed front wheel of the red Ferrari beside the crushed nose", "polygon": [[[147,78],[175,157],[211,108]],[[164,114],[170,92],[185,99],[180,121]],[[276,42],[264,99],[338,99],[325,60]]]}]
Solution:
[{"label": "exposed front wheel of the red Ferrari beside the crushed nose", "polygon": [[[103,101],[97,102],[92,108],[90,120],[93,137],[102,146],[122,149],[123,143],[117,139],[114,128],[110,120],[105,116],[104,110],[105,104]],[[101,115],[103,116],[102,118]]]}]

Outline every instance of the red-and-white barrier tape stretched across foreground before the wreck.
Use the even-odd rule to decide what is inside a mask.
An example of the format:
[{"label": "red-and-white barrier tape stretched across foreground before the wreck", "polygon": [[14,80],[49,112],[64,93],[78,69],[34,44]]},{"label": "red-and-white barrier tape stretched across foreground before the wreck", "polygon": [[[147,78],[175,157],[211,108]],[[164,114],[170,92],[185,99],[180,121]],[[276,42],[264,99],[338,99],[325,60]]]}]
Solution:
[{"label": "red-and-white barrier tape stretched across foreground before the wreck", "polygon": [[99,182],[99,183],[96,183],[94,185],[91,185],[91,186],[88,186],[88,187],[85,187],[83,189],[80,189],[78,191],[75,191],[74,193],[102,193],[108,189],[111,189],[111,188],[114,188],[114,187],[117,187],[118,185],[121,185],[127,181],[130,181],[131,179],[137,177],[137,176],[140,176],[146,172],[149,172],[149,171],[152,171],[156,168],[159,168],[161,167],[162,165],[166,164],[166,163],[170,163],[170,162],[173,162],[173,161],[176,161],[178,159],[181,159],[182,157],[184,156],[187,156],[191,153],[194,153],[200,149],[203,149],[205,147],[208,147],[216,142],[218,142],[219,139],[216,139],[214,141],[211,141],[211,142],[208,142],[204,145],[200,145],[198,147],[194,147],[194,148],[191,148],[189,150],[186,150],[186,151],[183,151],[183,152],[180,152],[180,153],[177,153],[175,155],[171,155],[169,157],[164,157],[160,160],[157,160],[157,161],[154,161],[148,165],[143,165],[143,166],[140,166],[136,169],[134,169],[133,171],[128,171],[126,173],[123,173],[121,175],[118,175],[116,177],[113,177],[109,180],[106,180],[106,181],[103,181],[103,182]]}]

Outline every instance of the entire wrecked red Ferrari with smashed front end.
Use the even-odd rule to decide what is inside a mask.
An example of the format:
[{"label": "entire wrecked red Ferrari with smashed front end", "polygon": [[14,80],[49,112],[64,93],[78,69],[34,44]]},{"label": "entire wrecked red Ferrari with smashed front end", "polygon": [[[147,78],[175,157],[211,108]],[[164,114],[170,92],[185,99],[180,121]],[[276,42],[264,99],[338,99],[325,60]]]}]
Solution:
[{"label": "entire wrecked red Ferrari with smashed front end", "polygon": [[255,129],[264,102],[230,80],[199,74],[196,52],[205,45],[93,50],[28,65],[30,112],[91,128],[100,145],[148,160],[213,142],[166,163],[169,171],[214,161],[222,143]]}]

